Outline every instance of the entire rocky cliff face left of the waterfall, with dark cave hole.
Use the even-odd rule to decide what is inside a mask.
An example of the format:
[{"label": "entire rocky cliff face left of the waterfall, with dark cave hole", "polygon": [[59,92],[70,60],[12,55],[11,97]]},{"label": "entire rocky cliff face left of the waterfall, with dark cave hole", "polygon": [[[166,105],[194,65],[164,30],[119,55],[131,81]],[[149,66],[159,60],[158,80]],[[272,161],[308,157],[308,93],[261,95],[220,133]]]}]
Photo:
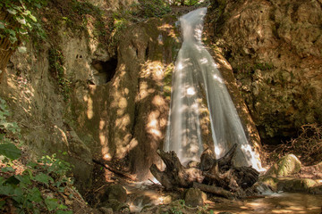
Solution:
[{"label": "entire rocky cliff face left of the waterfall, with dark cave hole", "polygon": [[[115,10],[131,3],[93,1]],[[55,41],[31,40],[13,53],[0,84],[27,152],[70,161],[81,193],[91,184],[92,159],[117,162],[138,178],[157,163],[180,47],[172,16],[124,22],[110,44],[95,36],[95,21],[88,17],[81,30],[59,21]]]}]

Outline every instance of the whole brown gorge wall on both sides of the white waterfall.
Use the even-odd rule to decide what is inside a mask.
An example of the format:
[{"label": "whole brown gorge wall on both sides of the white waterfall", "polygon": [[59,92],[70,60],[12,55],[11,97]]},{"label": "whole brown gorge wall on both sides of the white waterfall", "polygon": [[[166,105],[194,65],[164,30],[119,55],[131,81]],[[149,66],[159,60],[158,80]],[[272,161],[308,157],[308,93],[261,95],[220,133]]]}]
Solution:
[{"label": "whole brown gorge wall on both sides of the white waterfall", "polygon": [[[0,84],[25,152],[58,153],[70,161],[80,192],[91,184],[92,159],[147,177],[165,136],[181,46],[177,18],[123,21],[114,12],[137,1],[92,0],[89,8],[102,13],[84,10],[86,21],[78,26],[68,16],[72,1],[54,2],[38,17],[51,36],[21,44],[26,50],[13,53]],[[208,45],[256,148],[256,127],[262,139],[280,141],[303,124],[322,122],[321,4],[211,1]]]}]

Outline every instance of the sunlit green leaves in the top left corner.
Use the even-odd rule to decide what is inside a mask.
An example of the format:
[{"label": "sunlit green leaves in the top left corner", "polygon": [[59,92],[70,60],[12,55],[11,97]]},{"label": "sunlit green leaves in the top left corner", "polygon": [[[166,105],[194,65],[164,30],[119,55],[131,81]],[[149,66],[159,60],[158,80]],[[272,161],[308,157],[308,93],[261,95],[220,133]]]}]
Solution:
[{"label": "sunlit green leaves in the top left corner", "polygon": [[45,39],[46,33],[41,28],[35,16],[47,0],[2,0],[0,8],[10,14],[12,19],[0,21],[0,37],[9,37],[11,43],[16,43],[20,38],[26,38],[31,31],[35,31],[39,38]]}]

